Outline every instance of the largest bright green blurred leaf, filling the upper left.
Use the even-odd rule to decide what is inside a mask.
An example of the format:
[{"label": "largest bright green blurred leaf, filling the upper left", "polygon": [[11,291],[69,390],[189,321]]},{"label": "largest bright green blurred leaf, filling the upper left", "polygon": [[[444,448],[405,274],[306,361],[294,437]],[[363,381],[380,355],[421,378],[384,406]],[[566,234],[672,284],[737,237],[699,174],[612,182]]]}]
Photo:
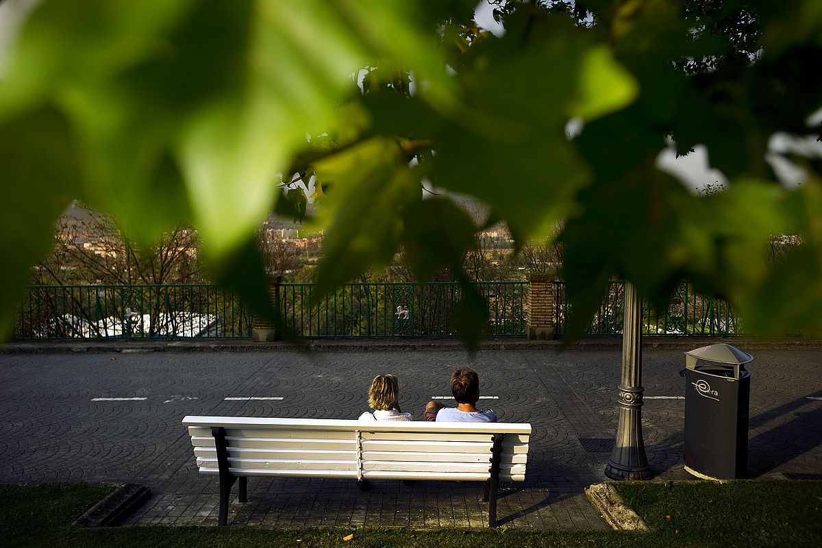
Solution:
[{"label": "largest bright green blurred leaf, filling the upper left", "polygon": [[270,210],[306,135],[346,134],[338,105],[360,68],[413,66],[446,93],[429,16],[376,0],[44,0],[12,52],[0,119],[57,104],[81,136],[79,197],[141,242],[191,218],[219,261]]}]

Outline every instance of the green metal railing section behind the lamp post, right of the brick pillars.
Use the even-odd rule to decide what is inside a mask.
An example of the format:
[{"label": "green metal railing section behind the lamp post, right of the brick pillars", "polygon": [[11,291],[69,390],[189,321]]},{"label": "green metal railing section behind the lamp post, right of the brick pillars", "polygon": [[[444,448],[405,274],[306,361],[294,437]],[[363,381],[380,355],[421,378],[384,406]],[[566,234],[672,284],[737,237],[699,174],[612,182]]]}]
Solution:
[{"label": "green metal railing section behind the lamp post, right of the brick pillars", "polygon": [[[624,288],[621,281],[611,283],[607,296],[585,329],[585,335],[622,333]],[[554,290],[554,325],[556,334],[561,335],[566,333],[570,307],[565,296],[565,283],[555,282]],[[727,302],[699,295],[689,283],[681,283],[667,310],[655,311],[648,302],[642,303],[642,333],[649,336],[728,337],[741,334],[741,325]]]}]

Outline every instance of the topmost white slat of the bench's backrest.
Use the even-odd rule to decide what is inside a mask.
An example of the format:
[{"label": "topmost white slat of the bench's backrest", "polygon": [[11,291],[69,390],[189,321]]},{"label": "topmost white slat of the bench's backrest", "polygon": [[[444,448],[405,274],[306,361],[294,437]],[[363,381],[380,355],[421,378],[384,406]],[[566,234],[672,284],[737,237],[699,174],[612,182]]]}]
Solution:
[{"label": "topmost white slat of the bench's backrest", "polygon": [[[284,430],[369,431],[369,432],[464,432],[530,434],[531,425],[519,422],[427,422],[427,421],[344,421],[339,419],[288,419],[272,417],[187,416],[185,426],[230,428],[281,428]],[[365,425],[365,427],[363,427]]]}]

